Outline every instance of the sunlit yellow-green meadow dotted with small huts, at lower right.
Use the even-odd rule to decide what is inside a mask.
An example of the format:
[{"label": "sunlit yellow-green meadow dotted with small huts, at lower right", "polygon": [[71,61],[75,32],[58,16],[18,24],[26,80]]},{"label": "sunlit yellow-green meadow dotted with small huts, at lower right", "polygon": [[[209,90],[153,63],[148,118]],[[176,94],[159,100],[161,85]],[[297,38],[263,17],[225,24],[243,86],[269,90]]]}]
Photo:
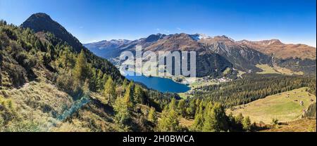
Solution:
[{"label": "sunlit yellow-green meadow dotted with small huts, at lower right", "polygon": [[[287,98],[287,94],[290,94],[290,98]],[[244,116],[249,116],[251,121],[263,121],[266,124],[270,124],[272,118],[277,118],[279,121],[284,122],[294,121],[301,117],[303,110],[309,107],[312,103],[311,99],[316,101],[316,96],[306,92],[306,88],[299,88],[293,91],[270,95],[266,98],[250,102],[247,105],[236,106],[236,110],[227,110],[227,113],[232,112],[235,115],[242,113]],[[300,105],[300,101],[304,101],[304,106]]]}]

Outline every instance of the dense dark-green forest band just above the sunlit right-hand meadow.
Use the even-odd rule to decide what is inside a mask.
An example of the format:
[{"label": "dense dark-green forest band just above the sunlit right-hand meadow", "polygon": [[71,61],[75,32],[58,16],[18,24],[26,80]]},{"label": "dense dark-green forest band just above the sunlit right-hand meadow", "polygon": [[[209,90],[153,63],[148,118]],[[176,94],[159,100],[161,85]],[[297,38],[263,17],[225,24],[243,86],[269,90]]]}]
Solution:
[{"label": "dense dark-green forest band just above the sunlit right-hand meadow", "polygon": [[309,92],[316,95],[316,78],[253,74],[228,83],[203,86],[194,97],[232,107],[301,87],[309,87]]}]

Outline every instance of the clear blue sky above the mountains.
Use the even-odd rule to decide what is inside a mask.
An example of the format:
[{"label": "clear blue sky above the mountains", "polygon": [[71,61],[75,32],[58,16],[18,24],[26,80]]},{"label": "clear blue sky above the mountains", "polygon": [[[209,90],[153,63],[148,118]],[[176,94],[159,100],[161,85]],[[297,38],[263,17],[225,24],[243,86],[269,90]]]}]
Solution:
[{"label": "clear blue sky above the mountains", "polygon": [[316,46],[316,0],[0,0],[0,19],[15,25],[38,12],[82,43],[185,32]]}]

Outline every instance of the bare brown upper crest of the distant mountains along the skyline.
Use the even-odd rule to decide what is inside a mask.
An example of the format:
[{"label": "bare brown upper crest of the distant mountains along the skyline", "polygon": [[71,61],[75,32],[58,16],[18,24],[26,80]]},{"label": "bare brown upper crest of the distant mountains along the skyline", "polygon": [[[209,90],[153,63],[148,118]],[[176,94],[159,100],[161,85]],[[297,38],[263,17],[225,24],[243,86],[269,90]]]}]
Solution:
[{"label": "bare brown upper crest of the distant mountains along the skyline", "polygon": [[[180,33],[180,34],[185,34],[185,33]],[[148,39],[149,37],[156,36],[156,35],[158,34],[151,34],[148,37],[145,37],[145,39]],[[160,35],[175,36],[178,34],[168,34],[168,35],[160,34]],[[191,36],[194,41],[199,41],[201,43],[207,43],[208,41],[210,43],[211,40],[212,42],[227,42],[227,43],[231,43],[231,45],[235,44],[235,45],[253,48],[254,50],[264,53],[266,55],[274,54],[276,58],[280,58],[280,59],[301,58],[303,60],[304,59],[316,60],[316,47],[308,46],[306,44],[285,44],[285,43],[282,43],[282,41],[280,41],[279,39],[267,39],[267,40],[261,40],[261,41],[249,41],[247,39],[243,39],[241,41],[235,41],[234,39],[225,35],[222,35],[222,36],[207,36],[206,34],[187,34],[187,35]],[[163,39],[163,37],[161,37],[160,39]],[[140,39],[137,39],[137,40],[140,40]],[[137,40],[134,40],[134,41],[137,41]],[[157,39],[156,41],[158,40],[159,39]],[[88,43],[88,44],[84,44],[84,46],[88,46],[87,48],[96,48],[92,46],[94,44],[101,44],[102,42],[103,41]],[[114,48],[118,48],[118,46]],[[282,51],[279,51],[279,50],[282,50]],[[301,53],[300,51],[304,51],[304,53]],[[290,52],[290,53],[285,55],[283,54],[285,52],[286,53]]]}]

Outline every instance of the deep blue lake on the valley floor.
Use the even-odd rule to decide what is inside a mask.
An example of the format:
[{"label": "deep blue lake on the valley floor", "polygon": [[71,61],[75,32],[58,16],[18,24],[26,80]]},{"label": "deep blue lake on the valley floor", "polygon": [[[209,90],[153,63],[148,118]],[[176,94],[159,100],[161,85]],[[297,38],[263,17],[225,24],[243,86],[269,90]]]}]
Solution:
[{"label": "deep blue lake on the valley floor", "polygon": [[163,93],[184,93],[189,91],[189,87],[185,84],[180,84],[172,79],[166,79],[161,77],[146,77],[146,76],[125,76],[127,79],[139,82],[147,86],[148,88],[152,88],[157,91],[161,91]]}]

